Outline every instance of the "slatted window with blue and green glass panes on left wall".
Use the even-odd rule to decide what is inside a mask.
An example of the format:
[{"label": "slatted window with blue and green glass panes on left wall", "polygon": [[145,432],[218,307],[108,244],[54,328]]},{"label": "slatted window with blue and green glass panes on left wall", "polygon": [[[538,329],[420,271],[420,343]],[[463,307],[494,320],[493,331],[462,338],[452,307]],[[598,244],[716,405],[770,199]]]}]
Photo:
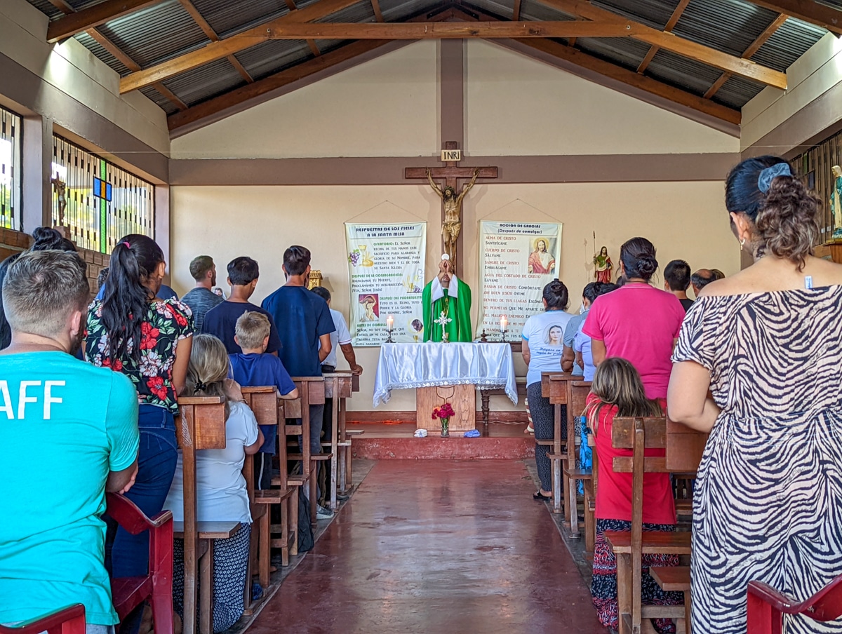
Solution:
[{"label": "slatted window with blue and green glass panes on left wall", "polygon": [[111,253],[129,233],[155,237],[155,188],[71,141],[53,136],[53,223],[79,247]]}]

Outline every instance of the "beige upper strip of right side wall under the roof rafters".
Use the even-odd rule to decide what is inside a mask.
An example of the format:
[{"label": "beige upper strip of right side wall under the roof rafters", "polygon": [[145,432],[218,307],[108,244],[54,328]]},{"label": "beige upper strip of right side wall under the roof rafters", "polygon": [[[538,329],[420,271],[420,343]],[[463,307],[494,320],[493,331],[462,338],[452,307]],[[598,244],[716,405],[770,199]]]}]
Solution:
[{"label": "beige upper strip of right side wall under the roof rafters", "polygon": [[[832,33],[824,35],[809,51],[786,70],[786,91],[765,88],[743,106],[740,149],[746,150],[778,125],[820,98],[842,82],[842,40]],[[807,141],[842,117],[842,107],[835,109],[833,120],[815,120],[812,128],[802,131],[803,138],[792,139],[786,146],[769,147],[768,152],[783,154]]]}]

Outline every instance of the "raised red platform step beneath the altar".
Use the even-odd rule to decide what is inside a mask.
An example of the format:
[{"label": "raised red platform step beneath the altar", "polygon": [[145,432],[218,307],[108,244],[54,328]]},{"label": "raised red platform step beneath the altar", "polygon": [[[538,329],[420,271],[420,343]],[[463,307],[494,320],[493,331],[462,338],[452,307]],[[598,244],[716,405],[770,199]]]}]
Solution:
[{"label": "raised red platform step beneath the altar", "polygon": [[[438,421],[430,421],[426,438],[415,438],[415,421],[388,423],[354,422],[354,413],[348,413],[348,429],[359,429],[364,434],[354,436],[354,458],[369,460],[480,460],[497,458],[518,460],[535,456],[535,437],[524,434],[524,423],[489,423],[488,435],[480,438],[462,438],[450,432],[450,438],[441,438]],[[482,425],[478,425],[482,429]]]}]

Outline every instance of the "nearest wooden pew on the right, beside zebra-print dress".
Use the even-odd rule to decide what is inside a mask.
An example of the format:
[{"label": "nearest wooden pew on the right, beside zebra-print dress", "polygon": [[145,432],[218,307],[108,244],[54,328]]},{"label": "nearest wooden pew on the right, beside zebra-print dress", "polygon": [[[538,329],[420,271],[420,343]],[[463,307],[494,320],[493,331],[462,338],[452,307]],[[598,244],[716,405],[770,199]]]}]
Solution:
[{"label": "nearest wooden pew on the right, beside zebra-print dress", "polygon": [[[669,426],[669,434],[668,434]],[[616,457],[614,471],[632,473],[632,530],[606,531],[617,560],[617,600],[621,634],[639,632],[642,619],[666,618],[678,621],[678,631],[690,634],[690,605],[641,605],[641,557],[661,553],[690,555],[689,532],[642,531],[644,472],[695,472],[701,461],[706,434],[683,425],[668,423],[666,418],[615,418],[612,444],[632,449],[632,457]],[[644,456],[644,450],[665,449],[664,457]],[[681,589],[690,597],[689,569],[652,568],[650,574],[663,589]],[[686,587],[686,590],[685,590]]]}]

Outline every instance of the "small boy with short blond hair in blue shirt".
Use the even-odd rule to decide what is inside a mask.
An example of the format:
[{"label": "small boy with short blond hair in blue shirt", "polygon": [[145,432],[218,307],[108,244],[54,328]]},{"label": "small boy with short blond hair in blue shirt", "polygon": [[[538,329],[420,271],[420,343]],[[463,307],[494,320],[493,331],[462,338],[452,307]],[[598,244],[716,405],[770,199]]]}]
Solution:
[{"label": "small boy with short blond hair in blue shirt", "polygon": [[[270,332],[271,322],[262,312],[243,312],[237,318],[234,341],[242,353],[228,355],[231,378],[241,386],[276,386],[281,398],[298,398],[296,384],[290,379],[283,362],[274,354],[266,353]],[[272,486],[272,456],[278,429],[274,425],[259,427],[264,434],[264,444],[256,456],[255,477],[258,489],[265,489]],[[280,468],[284,469],[285,465]]]}]

